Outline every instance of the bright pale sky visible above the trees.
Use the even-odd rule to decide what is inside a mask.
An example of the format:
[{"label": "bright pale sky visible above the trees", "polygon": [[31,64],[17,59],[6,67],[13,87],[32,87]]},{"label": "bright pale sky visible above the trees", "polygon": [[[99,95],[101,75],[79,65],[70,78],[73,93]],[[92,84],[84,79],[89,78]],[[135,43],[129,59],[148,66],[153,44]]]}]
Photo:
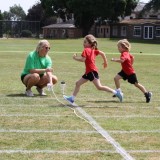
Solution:
[{"label": "bright pale sky visible above the trees", "polygon": [[[0,10],[1,12],[9,11],[9,8],[16,5],[20,5],[23,10],[28,13],[28,9],[30,9],[34,4],[39,2],[39,0],[5,0],[5,2],[2,2],[3,0],[0,0]],[[140,2],[147,3],[149,0],[140,0]]]}]

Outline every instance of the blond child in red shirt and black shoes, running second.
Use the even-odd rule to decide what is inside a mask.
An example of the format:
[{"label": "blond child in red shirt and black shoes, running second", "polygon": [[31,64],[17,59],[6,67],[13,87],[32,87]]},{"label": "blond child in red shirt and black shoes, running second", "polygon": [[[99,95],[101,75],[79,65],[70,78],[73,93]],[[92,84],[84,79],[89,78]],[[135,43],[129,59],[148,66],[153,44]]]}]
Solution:
[{"label": "blond child in red shirt and black shoes, running second", "polygon": [[[121,92],[120,79],[128,80],[129,83],[134,84],[140,89],[146,97],[146,103],[149,103],[152,97],[152,93],[148,92],[143,85],[141,85],[133,68],[134,57],[129,53],[131,44],[127,39],[119,40],[117,43],[119,52],[121,53],[120,58],[112,58],[111,61],[121,63],[122,70],[114,77],[117,91]],[[115,96],[115,95],[114,95]]]}]

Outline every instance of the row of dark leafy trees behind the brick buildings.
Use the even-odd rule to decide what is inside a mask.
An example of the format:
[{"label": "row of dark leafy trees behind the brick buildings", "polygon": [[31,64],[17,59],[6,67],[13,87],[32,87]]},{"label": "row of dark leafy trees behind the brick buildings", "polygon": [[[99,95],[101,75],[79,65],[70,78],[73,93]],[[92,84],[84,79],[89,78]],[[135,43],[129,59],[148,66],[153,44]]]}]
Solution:
[{"label": "row of dark leafy trees behind the brick buildings", "polygon": [[[118,17],[131,14],[139,0],[40,0],[26,14],[20,5],[11,6],[9,11],[0,11],[0,20],[39,21],[40,27],[54,24],[57,17],[63,22],[74,18],[76,27],[83,35],[88,34],[94,23],[118,22]],[[150,0],[144,10],[160,9],[160,0]]]}]

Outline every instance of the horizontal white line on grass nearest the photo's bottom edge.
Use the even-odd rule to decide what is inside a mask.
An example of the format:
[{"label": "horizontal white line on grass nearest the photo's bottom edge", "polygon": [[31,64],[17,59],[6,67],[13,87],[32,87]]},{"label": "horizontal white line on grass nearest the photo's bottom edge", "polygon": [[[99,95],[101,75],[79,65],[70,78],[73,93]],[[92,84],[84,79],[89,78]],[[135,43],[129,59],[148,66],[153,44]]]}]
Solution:
[{"label": "horizontal white line on grass nearest the photo's bottom edge", "polygon": [[[48,153],[48,154],[90,154],[90,153],[117,153],[112,150],[70,150],[70,151],[57,151],[57,150],[0,150],[0,154],[8,153],[23,153],[23,154],[32,154],[32,153]],[[128,150],[128,153],[160,153],[160,150]]]}]

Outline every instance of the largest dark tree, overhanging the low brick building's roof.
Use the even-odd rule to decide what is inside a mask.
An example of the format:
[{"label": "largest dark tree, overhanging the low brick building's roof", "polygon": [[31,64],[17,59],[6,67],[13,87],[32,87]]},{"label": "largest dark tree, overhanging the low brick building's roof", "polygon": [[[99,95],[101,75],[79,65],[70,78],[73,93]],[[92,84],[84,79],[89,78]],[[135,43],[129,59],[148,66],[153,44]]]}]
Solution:
[{"label": "largest dark tree, overhanging the low brick building's roof", "polygon": [[48,15],[58,14],[64,21],[74,14],[75,25],[88,34],[94,21],[117,21],[136,7],[138,0],[40,0]]}]

